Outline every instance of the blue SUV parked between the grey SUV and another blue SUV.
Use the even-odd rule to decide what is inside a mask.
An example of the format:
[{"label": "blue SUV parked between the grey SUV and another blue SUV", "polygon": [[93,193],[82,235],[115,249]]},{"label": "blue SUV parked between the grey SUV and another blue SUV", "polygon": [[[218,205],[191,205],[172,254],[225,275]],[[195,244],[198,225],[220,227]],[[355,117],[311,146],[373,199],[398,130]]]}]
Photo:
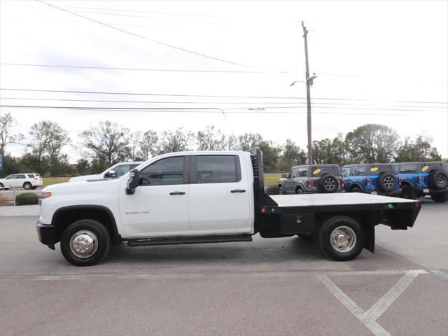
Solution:
[{"label": "blue SUV parked between the grey SUV and another blue SUV", "polygon": [[393,164],[346,165],[341,169],[342,183],[349,193],[398,196],[402,193]]}]

